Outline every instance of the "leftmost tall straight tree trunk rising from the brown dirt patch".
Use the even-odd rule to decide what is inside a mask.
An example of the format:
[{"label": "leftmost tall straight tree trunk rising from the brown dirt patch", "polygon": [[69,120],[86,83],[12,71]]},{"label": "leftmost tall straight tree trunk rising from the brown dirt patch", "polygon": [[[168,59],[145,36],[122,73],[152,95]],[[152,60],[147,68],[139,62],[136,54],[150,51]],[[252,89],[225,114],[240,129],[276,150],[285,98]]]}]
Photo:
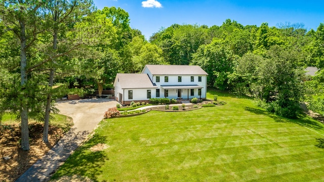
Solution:
[{"label": "leftmost tall straight tree trunk rising from the brown dirt patch", "polygon": [[[23,95],[26,93],[26,83],[27,83],[27,57],[26,57],[26,33],[25,33],[25,23],[19,21],[20,24],[20,78],[21,78],[21,89]],[[26,98],[26,97],[23,97]],[[28,107],[25,101],[21,101],[20,107],[21,116],[21,148],[24,151],[28,151],[29,148],[29,131],[28,131]]]}]

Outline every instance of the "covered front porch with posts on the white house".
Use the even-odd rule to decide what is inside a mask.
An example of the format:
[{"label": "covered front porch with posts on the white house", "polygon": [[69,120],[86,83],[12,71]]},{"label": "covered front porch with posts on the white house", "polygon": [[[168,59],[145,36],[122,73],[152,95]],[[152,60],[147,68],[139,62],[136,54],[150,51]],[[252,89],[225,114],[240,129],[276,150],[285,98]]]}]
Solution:
[{"label": "covered front porch with posts on the white house", "polygon": [[165,90],[165,97],[177,100],[201,99],[201,88],[199,85],[161,85]]}]

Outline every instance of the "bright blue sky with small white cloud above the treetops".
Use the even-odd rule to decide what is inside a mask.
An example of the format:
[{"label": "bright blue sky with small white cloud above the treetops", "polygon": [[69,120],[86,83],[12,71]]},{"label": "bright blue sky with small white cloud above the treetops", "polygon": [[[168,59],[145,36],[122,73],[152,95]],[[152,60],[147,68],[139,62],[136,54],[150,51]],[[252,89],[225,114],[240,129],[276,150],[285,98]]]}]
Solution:
[{"label": "bright blue sky with small white cloud above the treetops", "polygon": [[120,7],[130,15],[131,27],[139,29],[146,39],[161,27],[177,24],[221,26],[226,19],[242,25],[267,22],[303,23],[316,30],[324,23],[324,1],[219,1],[219,0],[94,0],[98,9]]}]

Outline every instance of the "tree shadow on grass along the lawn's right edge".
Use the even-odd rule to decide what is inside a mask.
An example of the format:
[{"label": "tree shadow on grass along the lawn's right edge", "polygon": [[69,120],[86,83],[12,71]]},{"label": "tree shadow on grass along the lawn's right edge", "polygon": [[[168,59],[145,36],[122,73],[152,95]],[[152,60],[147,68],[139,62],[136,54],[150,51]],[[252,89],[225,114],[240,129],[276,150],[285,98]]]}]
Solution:
[{"label": "tree shadow on grass along the lawn's right edge", "polygon": [[320,130],[320,129],[324,128],[324,125],[322,123],[312,119],[311,117],[307,116],[305,113],[299,113],[297,119],[289,119],[289,118],[284,118],[284,117],[281,117],[281,116],[277,116],[277,115],[275,115],[273,113],[270,113],[268,111],[264,111],[264,110],[261,110],[261,109],[245,107],[245,110],[249,111],[249,112],[252,112],[252,113],[255,113],[255,114],[261,114],[261,115],[269,116],[270,118],[274,119],[276,122],[291,122],[291,123],[299,124],[301,126],[306,126],[306,127],[309,127],[309,128],[317,129],[317,130]]}]

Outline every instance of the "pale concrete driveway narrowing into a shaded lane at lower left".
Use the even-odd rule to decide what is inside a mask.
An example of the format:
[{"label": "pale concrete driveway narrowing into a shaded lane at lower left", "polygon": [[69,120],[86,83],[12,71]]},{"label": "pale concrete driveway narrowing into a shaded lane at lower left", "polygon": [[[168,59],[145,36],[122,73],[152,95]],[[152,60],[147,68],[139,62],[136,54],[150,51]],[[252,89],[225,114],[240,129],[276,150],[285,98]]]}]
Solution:
[{"label": "pale concrete driveway narrowing into a shaded lane at lower left", "polygon": [[74,126],[47,153],[39,159],[16,181],[47,181],[64,164],[65,160],[82,145],[89,133],[103,119],[104,112],[115,107],[116,101],[107,99],[86,99],[57,103],[60,114],[70,116]]}]

